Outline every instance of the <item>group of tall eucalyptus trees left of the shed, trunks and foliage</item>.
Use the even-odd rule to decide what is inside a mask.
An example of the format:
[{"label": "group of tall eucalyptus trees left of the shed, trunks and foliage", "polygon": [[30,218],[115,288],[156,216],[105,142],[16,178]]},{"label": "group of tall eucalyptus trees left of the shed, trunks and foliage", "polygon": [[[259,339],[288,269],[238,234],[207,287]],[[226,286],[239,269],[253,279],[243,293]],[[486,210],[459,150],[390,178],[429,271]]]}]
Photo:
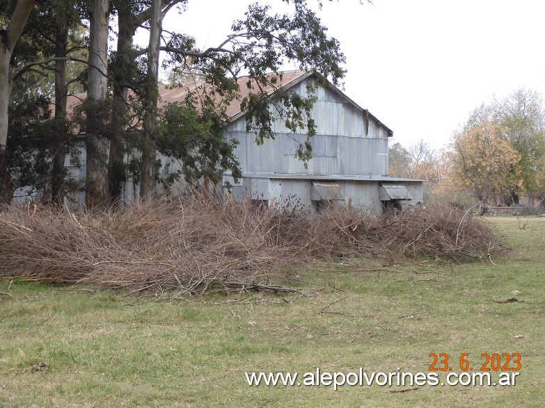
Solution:
[{"label": "group of tall eucalyptus trees left of the shed, trunks and foliage", "polygon": [[[10,59],[13,47],[19,39],[22,30],[35,6],[39,6],[40,15],[36,16],[42,19],[47,16],[47,32],[42,30],[40,24],[35,24],[35,19],[31,19],[31,29],[28,33],[40,33],[40,38],[47,39],[54,43],[54,51],[47,49],[46,60],[33,61],[26,65],[23,70],[12,77],[17,79],[19,74],[27,71],[38,72],[40,69],[50,69],[52,63],[55,66],[55,107],[54,115],[58,124],[55,145],[52,147],[50,162],[40,156],[42,161],[50,163],[50,174],[47,179],[47,195],[51,194],[51,201],[56,204],[63,204],[63,183],[65,176],[64,163],[67,155],[68,135],[67,135],[67,86],[70,81],[67,79],[67,60],[70,59],[67,54],[71,53],[68,49],[68,38],[70,33],[70,22],[72,13],[82,13],[82,10],[88,10],[88,15],[77,15],[77,18],[88,19],[89,43],[88,43],[88,67],[87,78],[87,101],[86,101],[86,206],[93,208],[115,203],[122,191],[122,182],[125,174],[125,165],[123,158],[129,143],[127,142],[128,133],[128,105],[127,95],[132,81],[138,81],[143,78],[143,87],[134,88],[135,93],[141,98],[143,108],[143,122],[141,123],[142,143],[141,143],[141,199],[150,200],[155,195],[155,179],[157,177],[156,152],[159,139],[157,119],[159,100],[158,76],[159,76],[159,52],[166,51],[171,57],[170,62],[184,67],[184,69],[196,70],[206,73],[207,81],[212,87],[214,95],[221,95],[226,100],[232,100],[236,90],[231,76],[237,76],[237,72],[248,70],[251,72],[251,78],[261,85],[267,85],[267,75],[264,72],[278,71],[278,65],[285,56],[292,56],[297,59],[301,66],[313,66],[321,72],[328,72],[333,78],[333,83],[338,85],[338,79],[342,78],[344,70],[340,68],[340,63],[344,61],[344,56],[340,52],[338,41],[327,38],[324,35],[326,28],[322,26],[319,19],[312,10],[306,8],[305,2],[299,0],[284,0],[294,6],[293,15],[269,15],[269,8],[254,3],[248,7],[246,19],[237,20],[232,26],[233,33],[228,35],[226,40],[219,47],[210,47],[208,49],[196,49],[191,35],[182,33],[169,33],[168,41],[161,47],[161,34],[163,31],[164,15],[176,5],[185,6],[188,0],[88,0],[84,3],[79,1],[40,1],[38,0],[13,0],[15,3],[14,11],[10,17],[7,30],[0,30],[0,199],[9,201],[11,198],[10,177],[7,174],[6,167],[6,144],[8,134],[8,101],[12,83],[10,83]],[[79,8],[79,6],[82,6]],[[108,64],[108,36],[109,36],[109,17],[110,7],[116,10],[118,17],[118,49],[117,56],[112,58],[116,62],[116,69],[109,72]],[[87,12],[86,12],[87,13]],[[33,16],[34,17],[34,16]],[[40,20],[41,21],[41,20]],[[46,20],[44,20],[46,21]],[[54,21],[54,31],[52,23]],[[139,52],[136,56],[132,45],[136,28],[149,22],[150,40],[148,49]],[[258,28],[255,28],[258,27]],[[267,35],[267,33],[280,33]],[[27,33],[25,33],[27,35]],[[29,39],[35,38],[29,35]],[[264,39],[267,41],[264,41]],[[241,40],[242,39],[242,40]],[[35,43],[33,43],[35,45]],[[41,44],[38,44],[38,48]],[[40,52],[38,51],[38,54]],[[21,54],[22,55],[22,54]],[[139,56],[146,56],[146,72],[136,72],[135,58],[139,61]],[[267,58],[262,58],[267,56]],[[17,58],[21,57],[19,54]],[[17,62],[20,62],[16,58]],[[22,60],[33,58],[25,54]],[[81,58],[80,58],[81,60]],[[49,65],[47,65],[49,64]],[[192,66],[195,64],[196,66]],[[47,65],[47,67],[45,67]],[[11,73],[13,74],[13,73]],[[272,81],[272,80],[271,80]],[[260,86],[261,86],[260,85]],[[141,88],[144,88],[142,91]],[[113,95],[109,98],[109,89]],[[137,90],[140,89],[140,92]],[[289,98],[285,96],[285,98]],[[211,104],[214,102],[211,100]],[[310,126],[310,120],[303,123],[303,118],[310,115],[313,104],[313,98],[307,98],[303,104],[288,103],[286,106],[293,106],[287,114],[285,124],[297,124],[297,127],[303,127],[308,124],[308,136],[312,136],[313,126]],[[284,101],[287,103],[286,101]],[[267,98],[249,98],[242,101],[243,105],[248,105],[248,111],[262,113],[269,109],[269,100]],[[275,102],[276,106],[281,106],[281,101]],[[22,107],[24,107],[22,105]],[[106,114],[106,109],[109,109]],[[189,164],[193,166],[191,171],[202,174],[198,166],[203,168],[237,168],[237,160],[232,154],[233,146],[226,144],[223,140],[221,129],[225,121],[224,112],[219,106],[217,111],[213,107],[203,108],[204,112],[196,113],[196,123],[199,118],[207,120],[206,126],[197,126],[196,133],[200,132],[202,140],[197,140],[195,149],[216,149],[210,153],[210,161],[203,160],[198,163]],[[111,117],[110,117],[111,115]],[[199,116],[200,115],[200,116]],[[110,120],[106,120],[107,117]],[[210,116],[210,117],[209,117]],[[255,126],[248,131],[257,131],[259,138],[274,137],[271,133],[270,123],[267,123],[270,115],[256,115],[250,117]],[[41,119],[40,119],[41,120]],[[177,121],[174,121],[177,123]],[[188,121],[189,122],[189,121]],[[204,124],[203,124],[204,126]],[[295,125],[294,125],[295,126]],[[210,128],[205,131],[206,127]],[[312,128],[312,129],[311,129]],[[37,129],[37,128],[35,128]],[[291,128],[290,128],[291,129]],[[208,132],[208,133],[207,133]],[[27,132],[28,133],[28,132]],[[202,133],[202,134],[201,134]],[[210,134],[209,134],[210,133]],[[183,134],[180,133],[180,135]],[[26,137],[26,133],[22,137]],[[213,139],[210,139],[209,136]],[[179,136],[180,140],[183,136]],[[199,147],[198,142],[202,142]],[[49,143],[49,140],[48,140]],[[161,145],[159,145],[161,146]],[[47,152],[49,154],[47,145]],[[193,147],[191,147],[192,149]],[[168,148],[166,149],[168,150]],[[43,153],[43,152],[40,152]],[[180,155],[184,156],[184,163],[191,162],[192,157],[187,156],[187,151],[180,149]],[[189,157],[189,158],[188,158]],[[304,156],[303,158],[305,158]],[[178,157],[180,160],[180,157]],[[185,165],[185,164],[184,164]],[[189,168],[188,168],[189,169]],[[187,172],[187,177],[191,177],[191,171]],[[32,182],[32,181],[29,181]],[[42,179],[39,183],[41,185]]]}]

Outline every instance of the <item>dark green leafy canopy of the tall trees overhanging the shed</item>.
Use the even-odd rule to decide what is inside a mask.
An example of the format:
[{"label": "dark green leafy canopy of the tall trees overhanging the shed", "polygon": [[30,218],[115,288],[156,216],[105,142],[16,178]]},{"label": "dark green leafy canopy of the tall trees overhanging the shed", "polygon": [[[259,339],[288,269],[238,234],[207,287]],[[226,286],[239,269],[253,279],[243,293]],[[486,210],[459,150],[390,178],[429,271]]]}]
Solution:
[{"label": "dark green leafy canopy of the tall trees overhanging the shed", "polygon": [[[306,129],[308,137],[313,136],[313,89],[308,89],[307,96],[292,92],[275,92],[271,96],[264,88],[278,83],[286,64],[316,70],[338,84],[345,74],[345,56],[339,42],[327,35],[313,10],[321,7],[319,1],[313,2],[313,6],[306,0],[278,2],[289,6],[290,11],[275,13],[270,2],[253,3],[244,16],[232,23],[225,40],[214,47],[198,49],[191,33],[164,31],[162,27],[166,13],[184,13],[189,0],[115,0],[110,4],[104,0],[4,1],[6,12],[2,21],[10,24],[4,45],[10,53],[3,56],[0,88],[8,100],[15,81],[28,81],[25,78],[31,75],[39,78],[41,89],[55,95],[56,123],[58,129],[64,129],[57,132],[61,137],[49,152],[42,152],[44,160],[52,164],[45,177],[45,184],[50,186],[44,186],[52,192],[51,198],[58,201],[63,194],[58,176],[63,177],[62,163],[75,140],[70,122],[66,122],[65,103],[60,103],[70,95],[69,84],[81,83],[89,99],[79,110],[83,115],[76,128],[87,135],[87,179],[82,187],[90,206],[117,199],[120,183],[127,177],[140,181],[143,197],[152,197],[159,177],[155,158],[158,149],[182,161],[188,181],[221,169],[229,169],[238,177],[233,146],[222,140],[221,131],[226,125],[226,106],[240,95],[237,80],[242,76],[248,76],[251,89],[245,92],[247,96],[240,104],[248,112],[247,130],[256,133],[256,142],[274,138],[271,122],[276,117],[281,117],[288,129]],[[42,25],[34,24],[36,19],[41,19]],[[144,49],[134,45],[133,40],[136,28],[141,26],[147,27],[150,35]],[[87,34],[68,47],[68,38],[82,27],[88,30]],[[115,50],[108,47],[109,35],[117,40]],[[32,52],[36,46],[36,52]],[[12,55],[13,49],[17,51]],[[82,55],[81,49],[89,51]],[[70,72],[67,62],[74,60],[86,63],[86,74]],[[159,110],[159,63],[175,78],[204,83],[205,91],[199,95],[204,102],[197,106],[196,95],[188,95],[184,103]],[[51,72],[55,73],[54,78]],[[29,92],[29,88],[23,92]],[[28,101],[25,103],[28,105]],[[0,124],[6,135],[0,138],[0,164],[4,163],[0,177],[5,181],[1,185],[13,187],[5,155],[1,154],[9,152],[10,145],[15,147],[15,133],[8,131],[7,107],[0,108]],[[104,114],[104,109],[110,113]],[[133,154],[139,162],[136,167],[134,160],[132,165],[123,160],[125,154],[134,153],[135,149],[139,150]],[[301,143],[297,154],[302,160],[310,158],[308,140]],[[8,190],[3,188],[5,193]]]}]

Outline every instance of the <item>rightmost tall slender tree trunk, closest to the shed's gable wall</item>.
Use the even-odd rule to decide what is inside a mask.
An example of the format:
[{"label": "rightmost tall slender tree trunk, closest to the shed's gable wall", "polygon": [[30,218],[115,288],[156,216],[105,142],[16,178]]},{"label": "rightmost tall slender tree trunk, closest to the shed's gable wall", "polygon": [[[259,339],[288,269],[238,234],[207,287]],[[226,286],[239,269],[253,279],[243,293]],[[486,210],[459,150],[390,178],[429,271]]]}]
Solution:
[{"label": "rightmost tall slender tree trunk, closest to the shed's gable wall", "polygon": [[144,113],[144,146],[142,151],[142,176],[140,197],[143,201],[155,195],[155,154],[157,131],[157,101],[159,94],[157,83],[159,78],[159,47],[163,14],[161,1],[152,0],[150,17],[150,44],[148,47],[148,72],[146,76],[146,95]]}]

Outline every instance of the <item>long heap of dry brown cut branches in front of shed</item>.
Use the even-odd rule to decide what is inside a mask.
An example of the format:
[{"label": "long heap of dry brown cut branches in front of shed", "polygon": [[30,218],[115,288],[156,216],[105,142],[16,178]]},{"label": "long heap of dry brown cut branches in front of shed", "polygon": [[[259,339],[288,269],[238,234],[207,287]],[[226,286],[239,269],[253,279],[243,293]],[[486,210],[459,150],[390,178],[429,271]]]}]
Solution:
[{"label": "long heap of dry brown cut branches in front of shed", "polygon": [[129,293],[274,291],[270,279],[293,263],[362,254],[456,260],[499,250],[489,229],[445,207],[380,217],[335,208],[305,215],[191,198],[123,211],[0,213],[0,277]]}]

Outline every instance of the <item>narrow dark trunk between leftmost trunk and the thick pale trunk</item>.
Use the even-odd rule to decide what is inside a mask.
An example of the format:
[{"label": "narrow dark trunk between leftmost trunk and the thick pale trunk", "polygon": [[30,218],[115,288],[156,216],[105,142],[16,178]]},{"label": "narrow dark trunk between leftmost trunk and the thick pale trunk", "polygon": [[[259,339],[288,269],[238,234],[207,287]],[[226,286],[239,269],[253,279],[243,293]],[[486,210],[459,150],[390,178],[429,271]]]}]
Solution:
[{"label": "narrow dark trunk between leftmost trunk and the thick pale trunk", "polygon": [[[68,17],[62,2],[56,7],[55,56],[63,58],[68,48]],[[55,119],[57,129],[57,145],[53,153],[51,174],[51,200],[56,206],[64,202],[64,162],[66,158],[66,60],[55,61]]]}]

